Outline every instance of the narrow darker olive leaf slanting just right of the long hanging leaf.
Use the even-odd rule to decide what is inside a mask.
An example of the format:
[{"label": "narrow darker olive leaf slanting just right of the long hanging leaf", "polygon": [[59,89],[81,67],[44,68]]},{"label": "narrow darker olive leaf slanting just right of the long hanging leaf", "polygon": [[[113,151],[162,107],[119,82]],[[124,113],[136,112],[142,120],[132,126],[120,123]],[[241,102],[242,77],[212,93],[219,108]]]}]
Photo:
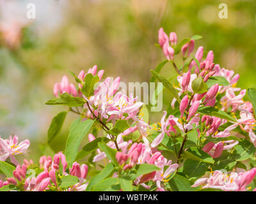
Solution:
[{"label": "narrow darker olive leaf slanting just right of the long hanging leaf", "polygon": [[93,151],[95,151],[96,149],[98,149],[99,142],[107,143],[107,142],[109,142],[109,139],[105,138],[105,137],[101,137],[101,138],[96,138],[95,140],[93,140],[90,143],[87,143],[86,145],[84,145],[83,149],[81,149],[80,152],[78,152],[78,154],[76,156],[76,161],[78,159],[82,159],[83,157],[87,156],[88,154],[90,154]]}]

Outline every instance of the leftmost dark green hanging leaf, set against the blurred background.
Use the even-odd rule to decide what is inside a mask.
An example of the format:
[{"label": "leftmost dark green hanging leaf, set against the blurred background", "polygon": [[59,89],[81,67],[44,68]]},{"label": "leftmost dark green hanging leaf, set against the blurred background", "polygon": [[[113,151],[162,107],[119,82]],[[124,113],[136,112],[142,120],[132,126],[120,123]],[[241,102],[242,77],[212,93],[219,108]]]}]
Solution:
[{"label": "leftmost dark green hanging leaf, set against the blurred background", "polygon": [[56,115],[51,122],[50,128],[48,129],[47,141],[51,143],[51,141],[60,133],[61,127],[67,115],[67,111],[60,112]]}]

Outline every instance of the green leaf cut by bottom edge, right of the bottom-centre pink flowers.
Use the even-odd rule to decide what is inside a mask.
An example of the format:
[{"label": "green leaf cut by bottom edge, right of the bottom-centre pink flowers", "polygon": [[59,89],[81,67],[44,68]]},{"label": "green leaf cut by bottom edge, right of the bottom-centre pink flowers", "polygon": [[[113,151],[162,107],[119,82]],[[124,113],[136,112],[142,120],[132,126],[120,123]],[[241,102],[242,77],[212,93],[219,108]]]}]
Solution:
[{"label": "green leaf cut by bottom edge, right of the bottom-centre pink flowers", "polygon": [[172,191],[195,191],[191,187],[191,183],[185,177],[176,174],[170,181],[170,186],[172,187]]}]

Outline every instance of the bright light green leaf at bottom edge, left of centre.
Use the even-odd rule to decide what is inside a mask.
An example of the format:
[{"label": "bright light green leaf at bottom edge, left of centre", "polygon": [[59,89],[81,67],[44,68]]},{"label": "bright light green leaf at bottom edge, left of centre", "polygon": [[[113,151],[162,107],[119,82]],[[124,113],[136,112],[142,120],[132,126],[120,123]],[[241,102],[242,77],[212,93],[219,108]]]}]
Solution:
[{"label": "bright light green leaf at bottom edge, left of centre", "polygon": [[96,184],[92,191],[117,191],[120,189],[118,178],[107,178]]}]

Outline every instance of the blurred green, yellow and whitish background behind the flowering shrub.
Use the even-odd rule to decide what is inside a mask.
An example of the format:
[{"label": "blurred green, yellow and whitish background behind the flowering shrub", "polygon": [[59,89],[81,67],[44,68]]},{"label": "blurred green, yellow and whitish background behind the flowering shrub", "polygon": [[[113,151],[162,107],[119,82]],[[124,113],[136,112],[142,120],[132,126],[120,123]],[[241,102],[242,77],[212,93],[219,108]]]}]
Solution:
[{"label": "blurred green, yellow and whitish background behind the flowering shrub", "polygon": [[[150,69],[164,60],[157,48],[157,31],[175,31],[178,41],[203,36],[196,48],[214,50],[214,62],[234,69],[238,87],[256,87],[255,0],[0,0],[0,135],[31,141],[30,156],[45,149],[51,119],[64,110],[47,106],[52,87],[68,73],[97,64],[105,76],[123,82],[148,82]],[[26,17],[35,3],[36,18]],[[228,18],[220,19],[220,3]],[[173,69],[165,66],[166,75]],[[170,95],[164,95],[164,100]],[[167,103],[167,102],[166,102]],[[162,114],[162,113],[161,113]],[[157,116],[158,117],[158,116]],[[158,118],[153,120],[158,120]],[[76,115],[68,113],[60,135],[51,143],[62,150],[68,127]],[[40,148],[38,144],[41,145]],[[50,153],[49,153],[50,154]]]}]

